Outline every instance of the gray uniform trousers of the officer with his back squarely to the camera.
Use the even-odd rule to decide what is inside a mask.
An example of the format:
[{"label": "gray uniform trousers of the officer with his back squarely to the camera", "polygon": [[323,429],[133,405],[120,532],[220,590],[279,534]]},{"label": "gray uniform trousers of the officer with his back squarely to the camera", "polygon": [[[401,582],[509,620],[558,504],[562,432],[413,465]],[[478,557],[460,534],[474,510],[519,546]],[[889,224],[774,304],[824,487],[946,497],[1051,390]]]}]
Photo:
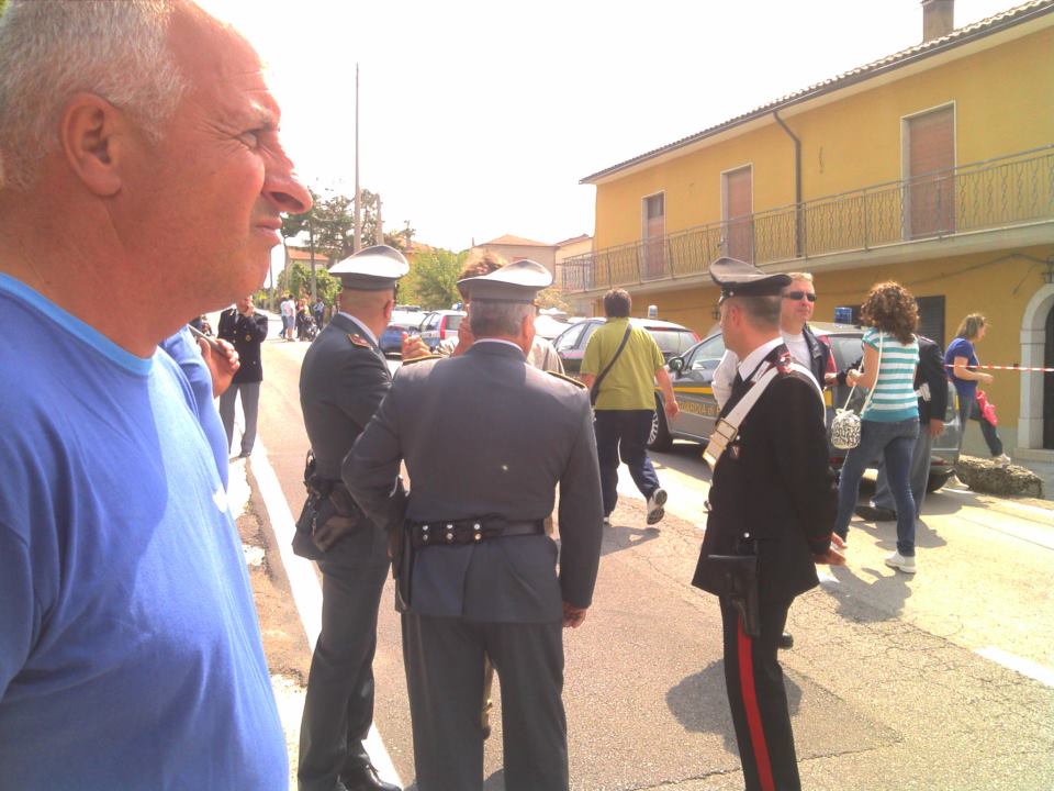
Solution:
[{"label": "gray uniform trousers of the officer with his back squarely to the camera", "polygon": [[419,791],[483,788],[483,658],[502,687],[505,788],[567,791],[563,634],[552,624],[403,615]]}]

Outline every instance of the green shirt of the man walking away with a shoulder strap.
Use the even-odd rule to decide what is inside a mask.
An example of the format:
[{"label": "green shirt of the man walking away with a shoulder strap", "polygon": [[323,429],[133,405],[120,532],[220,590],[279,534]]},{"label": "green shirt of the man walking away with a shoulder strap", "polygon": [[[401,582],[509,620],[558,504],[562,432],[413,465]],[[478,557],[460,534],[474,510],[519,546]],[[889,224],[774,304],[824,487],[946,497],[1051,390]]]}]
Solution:
[{"label": "green shirt of the man walking away with a shoulder strap", "polygon": [[[582,372],[599,376],[618,350],[629,319],[608,319],[585,345]],[[655,408],[655,371],[664,361],[659,344],[641,327],[632,327],[626,348],[601,382],[596,399],[598,410],[636,410]]]}]

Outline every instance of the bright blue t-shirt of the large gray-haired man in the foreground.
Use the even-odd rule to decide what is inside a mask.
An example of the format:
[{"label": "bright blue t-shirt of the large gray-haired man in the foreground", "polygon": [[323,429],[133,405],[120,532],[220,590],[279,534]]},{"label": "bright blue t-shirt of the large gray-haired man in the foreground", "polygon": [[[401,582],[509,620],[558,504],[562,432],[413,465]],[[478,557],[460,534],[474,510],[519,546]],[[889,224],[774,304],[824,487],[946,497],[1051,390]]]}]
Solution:
[{"label": "bright blue t-shirt of the large gray-haired man in the foreground", "polygon": [[0,786],[285,791],[193,396],[0,275]]}]

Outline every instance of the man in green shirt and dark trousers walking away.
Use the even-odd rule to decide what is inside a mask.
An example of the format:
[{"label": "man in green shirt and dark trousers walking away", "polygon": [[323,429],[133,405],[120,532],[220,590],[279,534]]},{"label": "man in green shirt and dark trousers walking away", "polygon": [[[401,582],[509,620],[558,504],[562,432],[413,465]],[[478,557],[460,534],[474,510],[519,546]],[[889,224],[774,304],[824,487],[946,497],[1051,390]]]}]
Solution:
[{"label": "man in green shirt and dark trousers walking away", "polygon": [[612,289],[604,294],[607,322],[593,333],[585,346],[582,382],[592,389],[601,379],[594,426],[604,493],[604,524],[609,524],[618,501],[616,488],[621,456],[633,483],[648,501],[648,524],[653,525],[663,517],[666,502],[666,492],[659,486],[655,468],[648,458],[648,435],[655,411],[655,380],[665,397],[666,417],[675,417],[680,409],[659,345],[647,330],[629,322],[631,307],[632,300],[623,289]]}]

